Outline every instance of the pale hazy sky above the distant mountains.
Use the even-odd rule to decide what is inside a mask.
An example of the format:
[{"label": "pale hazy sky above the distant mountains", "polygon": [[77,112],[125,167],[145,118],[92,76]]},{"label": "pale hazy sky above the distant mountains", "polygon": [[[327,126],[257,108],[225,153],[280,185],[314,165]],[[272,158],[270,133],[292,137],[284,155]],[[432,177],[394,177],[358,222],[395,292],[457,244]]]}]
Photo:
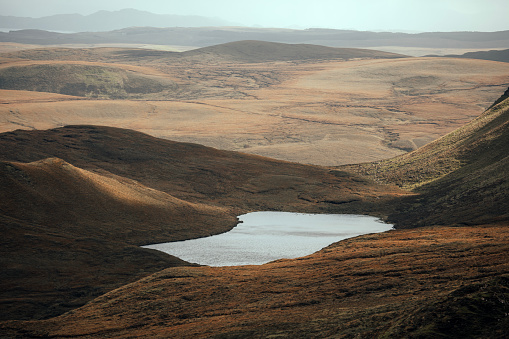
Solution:
[{"label": "pale hazy sky above the distant mountains", "polygon": [[[42,17],[135,8],[245,26],[399,31],[509,30],[509,0],[0,0],[1,15]],[[1,23],[0,23],[1,26]]]}]

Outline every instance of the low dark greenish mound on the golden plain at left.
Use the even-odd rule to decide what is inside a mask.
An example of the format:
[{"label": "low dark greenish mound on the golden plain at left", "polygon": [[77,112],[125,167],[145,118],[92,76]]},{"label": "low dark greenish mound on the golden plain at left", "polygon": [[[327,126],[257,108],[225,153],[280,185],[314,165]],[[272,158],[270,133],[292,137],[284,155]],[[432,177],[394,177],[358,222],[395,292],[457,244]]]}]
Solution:
[{"label": "low dark greenish mound on the golden plain at left", "polygon": [[127,98],[175,86],[115,67],[48,64],[0,69],[0,88],[93,98]]}]

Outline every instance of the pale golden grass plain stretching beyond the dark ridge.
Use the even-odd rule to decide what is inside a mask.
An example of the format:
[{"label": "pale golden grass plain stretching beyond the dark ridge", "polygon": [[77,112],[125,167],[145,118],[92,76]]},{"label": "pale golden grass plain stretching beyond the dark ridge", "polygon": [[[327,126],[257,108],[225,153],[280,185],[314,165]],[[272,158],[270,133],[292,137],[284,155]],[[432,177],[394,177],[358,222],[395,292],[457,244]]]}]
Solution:
[{"label": "pale golden grass plain stretching beyond the dark ridge", "polygon": [[[98,124],[283,160],[341,165],[416,149],[479,115],[509,83],[509,64],[481,60],[201,63],[143,61],[119,55],[121,49],[99,51],[82,58],[100,62],[72,62],[121,67],[175,81],[178,88],[136,101],[58,97],[45,103],[30,93],[2,91],[8,104],[0,107],[0,131]],[[34,61],[5,61],[2,67],[16,64]]]}]

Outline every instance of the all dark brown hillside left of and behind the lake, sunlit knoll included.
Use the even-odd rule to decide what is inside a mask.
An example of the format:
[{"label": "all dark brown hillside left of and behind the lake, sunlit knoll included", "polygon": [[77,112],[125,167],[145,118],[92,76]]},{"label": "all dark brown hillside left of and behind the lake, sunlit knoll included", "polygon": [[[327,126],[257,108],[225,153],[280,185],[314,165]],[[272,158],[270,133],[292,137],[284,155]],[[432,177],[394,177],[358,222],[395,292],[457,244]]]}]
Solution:
[{"label": "all dark brown hillside left of and behind the lake, sunlit knoll included", "polygon": [[74,126],[0,134],[1,318],[41,319],[158,270],[139,245],[217,234],[252,210],[383,212],[356,175]]}]

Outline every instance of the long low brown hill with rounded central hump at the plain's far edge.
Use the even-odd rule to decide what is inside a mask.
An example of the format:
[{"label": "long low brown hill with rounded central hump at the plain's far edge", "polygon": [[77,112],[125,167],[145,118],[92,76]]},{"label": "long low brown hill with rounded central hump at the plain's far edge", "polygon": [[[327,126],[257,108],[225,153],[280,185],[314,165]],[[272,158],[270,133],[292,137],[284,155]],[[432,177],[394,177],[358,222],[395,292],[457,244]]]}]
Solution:
[{"label": "long low brown hill with rounded central hump at the plain's far edge", "polygon": [[[235,41],[226,44],[198,48],[185,52],[169,52],[141,48],[39,48],[18,52],[4,53],[2,55],[12,59],[47,60],[47,61],[107,61],[107,62],[133,62],[147,60],[189,60],[189,61],[228,61],[228,62],[270,62],[270,61],[322,61],[322,60],[349,60],[355,58],[393,59],[403,58],[405,55],[388,53],[377,50],[361,48],[336,48],[308,44],[286,44],[257,40]],[[57,68],[56,66],[52,66]],[[82,67],[83,68],[83,67]],[[105,68],[105,70],[107,70]],[[62,71],[53,70],[55,74]],[[83,70],[82,70],[83,71]],[[111,69],[109,70],[112,71]],[[5,71],[0,71],[1,74]],[[77,68],[76,72],[80,72]],[[118,72],[118,71],[117,71]],[[125,78],[125,76],[123,76]],[[12,82],[19,82],[12,79]],[[62,83],[62,81],[59,81]],[[57,87],[62,84],[54,84]],[[147,86],[147,85],[145,85]],[[155,90],[155,84],[148,86],[145,92]],[[156,86],[157,87],[157,86]],[[141,90],[141,88],[139,88]]]}]

